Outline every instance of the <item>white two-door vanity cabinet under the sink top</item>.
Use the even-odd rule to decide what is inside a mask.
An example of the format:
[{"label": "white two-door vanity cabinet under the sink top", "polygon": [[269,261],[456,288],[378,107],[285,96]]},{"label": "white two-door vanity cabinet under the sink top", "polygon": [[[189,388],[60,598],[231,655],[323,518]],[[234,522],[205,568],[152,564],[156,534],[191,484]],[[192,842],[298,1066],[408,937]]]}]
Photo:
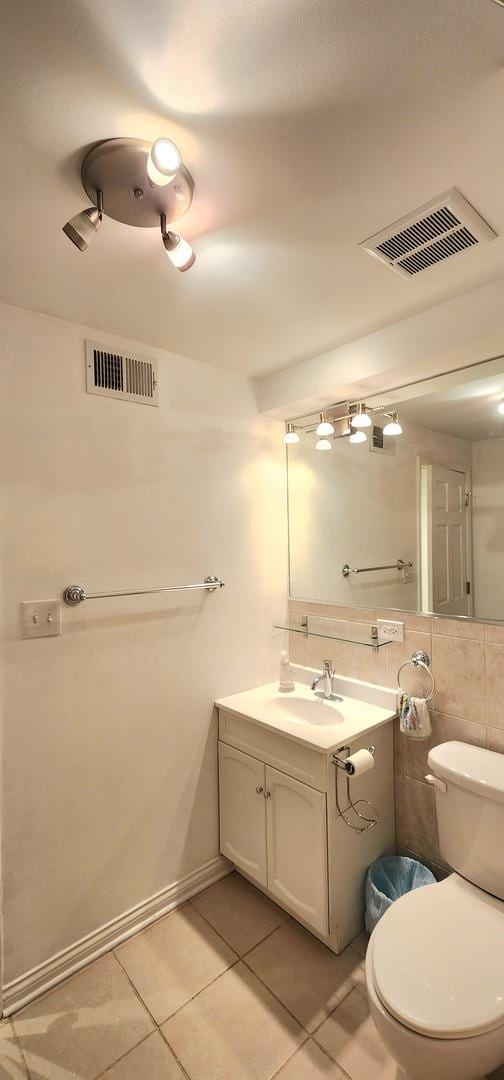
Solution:
[{"label": "white two-door vanity cabinet under the sink top", "polygon": [[[358,778],[353,794],[369,799],[380,821],[357,834],[337,810],[332,753],[219,704],[220,851],[335,953],[364,924],[367,867],[394,850],[392,725],[351,748],[370,742],[379,768]],[[344,775],[339,783],[344,806]]]}]

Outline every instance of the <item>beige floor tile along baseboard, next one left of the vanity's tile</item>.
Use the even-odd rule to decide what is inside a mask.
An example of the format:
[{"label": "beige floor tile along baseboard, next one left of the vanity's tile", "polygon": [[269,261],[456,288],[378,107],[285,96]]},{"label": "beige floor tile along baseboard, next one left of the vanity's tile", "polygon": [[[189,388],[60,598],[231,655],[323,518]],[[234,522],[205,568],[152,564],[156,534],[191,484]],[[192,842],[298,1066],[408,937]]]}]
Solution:
[{"label": "beige floor tile along baseboard, next one left of the vanity's tile", "polygon": [[189,904],[121,945],[117,955],[158,1024],[236,960]]}]

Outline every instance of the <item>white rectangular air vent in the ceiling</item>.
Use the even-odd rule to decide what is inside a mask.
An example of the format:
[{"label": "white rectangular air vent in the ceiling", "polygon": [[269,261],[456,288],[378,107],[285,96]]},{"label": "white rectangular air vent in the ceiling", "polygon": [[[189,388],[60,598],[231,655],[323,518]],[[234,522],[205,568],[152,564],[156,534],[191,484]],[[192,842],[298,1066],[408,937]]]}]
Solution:
[{"label": "white rectangular air vent in the ceiling", "polygon": [[436,262],[495,233],[457,188],[394,221],[359,245],[401,275],[414,278]]}]

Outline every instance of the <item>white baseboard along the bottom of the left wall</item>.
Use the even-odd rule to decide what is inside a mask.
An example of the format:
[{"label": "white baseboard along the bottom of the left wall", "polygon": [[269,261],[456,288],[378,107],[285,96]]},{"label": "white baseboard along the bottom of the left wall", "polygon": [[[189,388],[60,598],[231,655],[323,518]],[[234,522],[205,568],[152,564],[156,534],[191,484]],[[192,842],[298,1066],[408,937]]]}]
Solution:
[{"label": "white baseboard along the bottom of the left wall", "polygon": [[27,971],[11,983],[6,983],[3,987],[3,1015],[10,1016],[23,1005],[28,1004],[29,1001],[45,994],[64,978],[68,978],[68,975],[84,968],[92,960],[96,960],[104,953],[108,953],[115,945],[120,945],[121,942],[132,937],[139,930],[144,930],[151,922],[155,922],[161,916],[183,904],[191,896],[195,896],[203,889],[207,889],[208,886],[214,885],[231,870],[231,863],[222,855],[218,855],[201,866],[200,869],[187,874],[186,877],[169,885],[166,889],[162,889],[154,896],[150,896],[141,904],[137,904],[128,912],[124,912],[123,915],[94,930],[91,934],[86,934],[85,937],[81,937],[80,941],[69,945],[49,960],[39,963],[31,971]]}]

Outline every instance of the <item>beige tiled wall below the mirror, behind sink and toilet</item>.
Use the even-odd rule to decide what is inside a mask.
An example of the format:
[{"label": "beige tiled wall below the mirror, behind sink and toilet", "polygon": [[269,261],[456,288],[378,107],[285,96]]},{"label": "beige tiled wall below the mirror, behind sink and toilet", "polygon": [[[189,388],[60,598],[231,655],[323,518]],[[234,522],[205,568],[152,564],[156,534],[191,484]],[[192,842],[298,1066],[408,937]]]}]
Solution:
[{"label": "beige tiled wall below the mirror, behind sink and toilet", "polygon": [[[369,627],[390,612],[290,600],[289,613],[339,619]],[[433,734],[425,741],[408,740],[396,721],[395,797],[398,849],[445,869],[439,854],[434,791],[424,782],[427,752],[437,743],[458,739],[504,753],[504,625],[436,619],[430,616],[395,615],[405,623],[405,642],[374,652],[346,642],[289,634],[290,660],[322,669],[332,660],[338,674],[396,687],[399,665],[416,649],[424,649],[432,661],[436,693],[431,703]],[[413,677],[411,677],[411,675]],[[406,683],[406,673],[404,679]],[[405,688],[422,694],[425,675],[412,672]]]}]

